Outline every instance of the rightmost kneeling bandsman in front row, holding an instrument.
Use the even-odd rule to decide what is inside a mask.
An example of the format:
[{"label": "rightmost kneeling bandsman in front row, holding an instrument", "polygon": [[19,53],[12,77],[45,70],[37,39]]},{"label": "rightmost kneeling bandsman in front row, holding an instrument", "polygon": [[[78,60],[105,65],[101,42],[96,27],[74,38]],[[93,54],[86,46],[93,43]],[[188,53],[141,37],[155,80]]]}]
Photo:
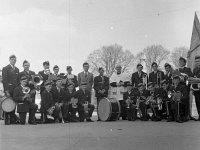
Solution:
[{"label": "rightmost kneeling bandsman in front row, holding an instrument", "polygon": [[183,121],[187,121],[184,111],[187,109],[189,93],[187,86],[180,83],[180,77],[178,75],[173,77],[173,84],[174,86],[169,89],[172,107],[172,112],[170,114],[172,114],[171,117],[174,118],[176,122],[182,123]]}]

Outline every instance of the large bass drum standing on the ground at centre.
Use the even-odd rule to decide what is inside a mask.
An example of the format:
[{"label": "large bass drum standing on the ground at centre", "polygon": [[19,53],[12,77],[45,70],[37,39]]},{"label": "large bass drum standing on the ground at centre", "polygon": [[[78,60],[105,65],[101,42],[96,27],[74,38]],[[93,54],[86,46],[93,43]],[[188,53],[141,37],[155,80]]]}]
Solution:
[{"label": "large bass drum standing on the ground at centre", "polygon": [[120,103],[115,98],[102,98],[98,105],[98,115],[101,121],[116,121],[121,114]]}]

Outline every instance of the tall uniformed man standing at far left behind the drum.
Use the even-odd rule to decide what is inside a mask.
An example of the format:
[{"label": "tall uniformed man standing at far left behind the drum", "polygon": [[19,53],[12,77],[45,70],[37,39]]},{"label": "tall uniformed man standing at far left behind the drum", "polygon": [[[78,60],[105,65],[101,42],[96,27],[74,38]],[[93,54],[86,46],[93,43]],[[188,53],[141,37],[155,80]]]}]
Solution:
[{"label": "tall uniformed man standing at far left behind the drum", "polygon": [[[19,85],[19,69],[15,66],[17,58],[15,55],[9,57],[10,64],[3,67],[2,77],[5,94],[8,97],[13,97],[14,89]],[[18,118],[15,115],[15,110],[7,113],[5,112],[5,124],[15,124]]]}]

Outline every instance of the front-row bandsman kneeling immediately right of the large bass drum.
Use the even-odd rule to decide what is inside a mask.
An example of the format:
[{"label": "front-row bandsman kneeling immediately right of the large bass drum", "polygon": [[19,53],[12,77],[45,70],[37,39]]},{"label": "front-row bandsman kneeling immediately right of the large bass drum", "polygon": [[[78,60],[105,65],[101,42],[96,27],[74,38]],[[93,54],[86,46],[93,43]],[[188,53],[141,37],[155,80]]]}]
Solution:
[{"label": "front-row bandsman kneeling immediately right of the large bass drum", "polygon": [[123,94],[123,109],[126,110],[127,118],[129,121],[135,121],[137,119],[137,109],[134,103],[134,91],[132,89],[132,84],[130,82],[127,83],[127,92]]}]

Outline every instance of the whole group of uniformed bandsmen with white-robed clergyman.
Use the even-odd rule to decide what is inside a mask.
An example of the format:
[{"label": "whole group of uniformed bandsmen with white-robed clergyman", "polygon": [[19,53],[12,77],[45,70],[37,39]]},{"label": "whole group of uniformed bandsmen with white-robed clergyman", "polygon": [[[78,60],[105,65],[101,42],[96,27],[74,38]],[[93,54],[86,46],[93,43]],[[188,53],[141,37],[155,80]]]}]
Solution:
[{"label": "whole group of uniformed bandsmen with white-robed clergyman", "polygon": [[[30,70],[30,63],[23,62],[24,70],[19,72],[15,66],[16,56],[9,57],[10,64],[3,67],[0,75],[0,94],[12,97],[17,104],[16,110],[4,112],[5,124],[25,124],[29,113],[29,124],[37,124],[35,113],[40,112],[43,123],[51,122],[93,122],[91,120],[95,106],[91,103],[91,91],[94,87],[99,102],[104,97],[114,97],[121,106],[122,120],[135,121],[176,121],[200,120],[191,117],[189,92],[190,85],[182,79],[180,74],[174,74],[170,64],[165,64],[165,73],[158,69],[156,62],[152,63],[153,71],[147,75],[143,72],[142,64],[137,65],[137,71],[130,75],[122,72],[121,65],[116,66],[116,72],[110,78],[104,75],[104,68],[99,68],[99,75],[93,77],[89,64],[83,63],[83,71],[78,76],[72,74],[72,67],[67,66],[67,73],[59,74],[59,67],[50,63],[43,63],[44,70],[38,74]],[[200,56],[195,57],[200,62]],[[200,78],[200,63],[192,73],[186,67],[186,59],[180,57],[179,73],[189,77]],[[38,86],[33,78],[39,76],[42,84]],[[27,88],[28,87],[28,88]],[[78,90],[77,87],[79,87]],[[26,91],[28,89],[28,92]],[[41,94],[41,106],[36,104],[36,93]],[[110,93],[110,94],[109,94]],[[197,112],[200,114],[200,91],[194,91]],[[0,98],[1,98],[0,97]],[[77,116],[78,113],[78,116]],[[51,119],[53,118],[53,119]],[[100,121],[98,115],[98,121]]]}]

